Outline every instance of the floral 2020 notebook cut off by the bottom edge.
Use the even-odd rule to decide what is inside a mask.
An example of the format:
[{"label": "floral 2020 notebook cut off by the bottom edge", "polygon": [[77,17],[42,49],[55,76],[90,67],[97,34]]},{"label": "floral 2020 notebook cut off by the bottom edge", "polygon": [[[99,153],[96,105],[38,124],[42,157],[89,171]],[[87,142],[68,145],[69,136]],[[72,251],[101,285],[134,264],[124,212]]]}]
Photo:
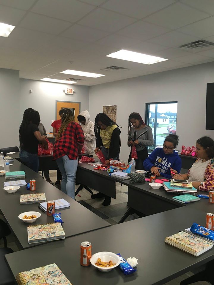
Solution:
[{"label": "floral 2020 notebook cut off by the bottom edge", "polygon": [[16,280],[19,285],[72,285],[55,263],[21,272]]}]

